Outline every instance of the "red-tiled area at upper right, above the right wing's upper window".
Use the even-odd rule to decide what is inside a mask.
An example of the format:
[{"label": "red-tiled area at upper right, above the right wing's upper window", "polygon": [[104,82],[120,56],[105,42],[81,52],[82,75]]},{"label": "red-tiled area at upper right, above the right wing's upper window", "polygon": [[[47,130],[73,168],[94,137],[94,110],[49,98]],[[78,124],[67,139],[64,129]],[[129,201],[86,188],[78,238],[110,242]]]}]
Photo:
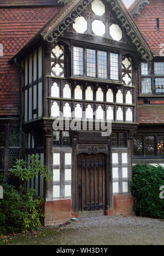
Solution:
[{"label": "red-tiled area at upper right, above the right wing's upper window", "polygon": [[[160,19],[160,31],[157,31],[156,19]],[[149,43],[155,55],[159,55],[160,44],[164,43],[164,1],[150,0],[149,5],[140,9],[140,16],[134,17],[139,30]]]}]

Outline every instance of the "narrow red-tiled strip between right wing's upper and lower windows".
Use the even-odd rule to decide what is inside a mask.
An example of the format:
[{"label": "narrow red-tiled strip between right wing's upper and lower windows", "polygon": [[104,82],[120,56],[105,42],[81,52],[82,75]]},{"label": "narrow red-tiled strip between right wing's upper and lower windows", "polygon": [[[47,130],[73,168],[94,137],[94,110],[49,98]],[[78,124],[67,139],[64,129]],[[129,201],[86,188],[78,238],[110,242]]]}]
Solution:
[{"label": "narrow red-tiled strip between right wing's upper and lower windows", "polygon": [[164,105],[137,106],[139,124],[164,124]]}]

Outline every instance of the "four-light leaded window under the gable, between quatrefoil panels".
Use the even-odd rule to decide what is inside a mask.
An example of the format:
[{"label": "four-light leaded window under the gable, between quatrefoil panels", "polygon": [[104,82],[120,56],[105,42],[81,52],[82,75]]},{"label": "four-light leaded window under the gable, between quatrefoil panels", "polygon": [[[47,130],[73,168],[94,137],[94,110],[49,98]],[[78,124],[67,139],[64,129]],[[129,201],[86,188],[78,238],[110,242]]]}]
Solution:
[{"label": "four-light leaded window under the gable, between quatrefoil panels", "polygon": [[73,75],[119,80],[119,54],[74,46]]}]

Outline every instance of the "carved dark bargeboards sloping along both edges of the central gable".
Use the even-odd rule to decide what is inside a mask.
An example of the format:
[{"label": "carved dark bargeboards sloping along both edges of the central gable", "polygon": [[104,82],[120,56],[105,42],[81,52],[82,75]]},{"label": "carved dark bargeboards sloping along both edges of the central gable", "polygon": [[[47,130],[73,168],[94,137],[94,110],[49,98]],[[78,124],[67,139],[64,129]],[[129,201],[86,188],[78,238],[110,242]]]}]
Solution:
[{"label": "carved dark bargeboards sloping along both edges of the central gable", "polygon": [[[80,0],[80,1],[72,1],[71,9],[68,8],[68,4],[65,7],[66,10],[64,15],[60,17],[58,15],[54,17],[54,21],[51,22],[48,26],[45,26],[43,33],[44,39],[48,42],[57,43],[57,39],[60,36],[63,36],[64,32],[67,31],[71,24],[82,15],[83,11],[86,10],[87,5],[89,5],[92,0]],[[128,11],[125,9],[124,5],[121,1],[118,0],[106,0],[105,1],[109,10],[115,15],[115,18],[118,20],[120,24],[121,30],[125,30],[128,37],[130,37],[131,42],[136,45],[136,49],[144,60],[150,61],[153,59],[153,55],[151,54],[150,49],[147,46],[144,38],[138,31],[138,28],[134,25],[131,16],[128,14]]]}]

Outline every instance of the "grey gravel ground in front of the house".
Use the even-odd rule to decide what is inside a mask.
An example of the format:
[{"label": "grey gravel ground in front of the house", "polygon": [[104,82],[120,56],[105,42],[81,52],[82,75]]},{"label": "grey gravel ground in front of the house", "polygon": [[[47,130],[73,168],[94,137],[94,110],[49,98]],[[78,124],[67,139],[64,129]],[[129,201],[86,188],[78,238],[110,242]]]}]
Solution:
[{"label": "grey gravel ground in front of the house", "polygon": [[81,218],[59,229],[18,235],[9,245],[164,245],[164,221],[141,217]]}]

